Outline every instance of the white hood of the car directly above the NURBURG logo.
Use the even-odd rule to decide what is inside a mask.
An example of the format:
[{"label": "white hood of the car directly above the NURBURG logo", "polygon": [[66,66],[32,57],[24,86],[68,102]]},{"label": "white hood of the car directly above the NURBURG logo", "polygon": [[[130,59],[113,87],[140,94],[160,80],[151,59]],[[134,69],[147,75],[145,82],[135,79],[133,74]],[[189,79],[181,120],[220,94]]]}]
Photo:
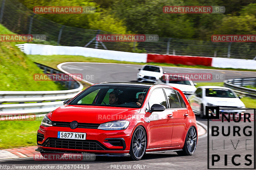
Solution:
[{"label": "white hood of the car directly above the NURBURG logo", "polygon": [[239,98],[205,97],[205,101],[216,106],[244,106],[244,103]]}]

